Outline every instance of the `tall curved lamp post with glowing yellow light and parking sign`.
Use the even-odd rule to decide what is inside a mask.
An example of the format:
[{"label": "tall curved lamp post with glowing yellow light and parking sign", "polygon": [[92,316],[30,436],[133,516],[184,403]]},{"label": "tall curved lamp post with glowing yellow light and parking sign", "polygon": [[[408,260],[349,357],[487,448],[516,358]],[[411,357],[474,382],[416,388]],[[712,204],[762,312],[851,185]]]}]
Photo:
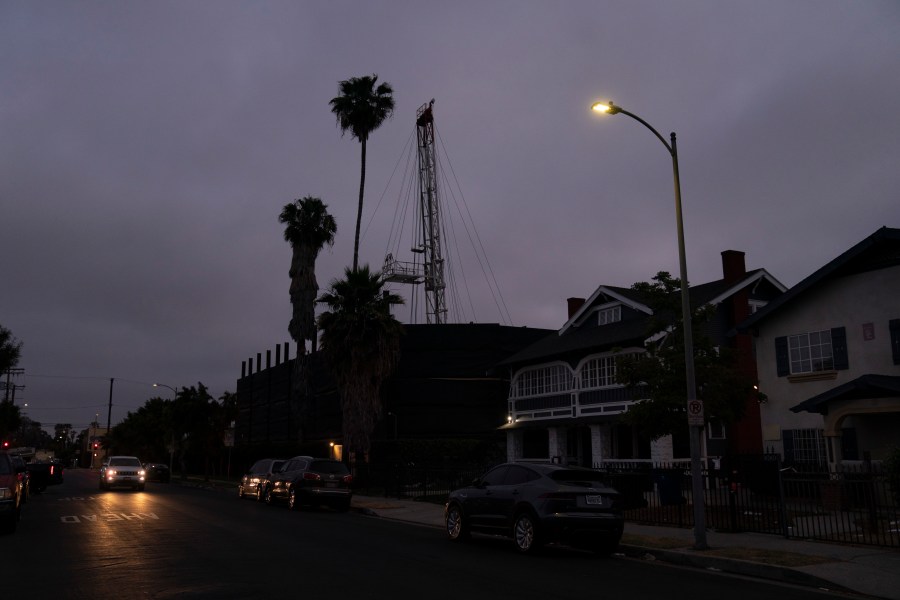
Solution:
[{"label": "tall curved lamp post with glowing yellow light and parking sign", "polygon": [[610,115],[622,113],[628,115],[653,132],[672,157],[672,172],[675,176],[675,221],[678,228],[678,268],[681,278],[681,319],[684,329],[684,371],[687,381],[687,418],[688,434],[691,448],[691,495],[694,505],[694,548],[705,550],[706,543],[706,511],[703,499],[703,479],[700,467],[700,440],[704,427],[703,401],[697,398],[697,383],[694,376],[694,333],[691,328],[691,302],[688,295],[687,260],[684,252],[684,222],[681,217],[681,180],[678,176],[678,146],[675,143],[675,132],[670,134],[671,143],[667,142],[647,121],[634,113],[612,102],[597,102],[591,109]]}]

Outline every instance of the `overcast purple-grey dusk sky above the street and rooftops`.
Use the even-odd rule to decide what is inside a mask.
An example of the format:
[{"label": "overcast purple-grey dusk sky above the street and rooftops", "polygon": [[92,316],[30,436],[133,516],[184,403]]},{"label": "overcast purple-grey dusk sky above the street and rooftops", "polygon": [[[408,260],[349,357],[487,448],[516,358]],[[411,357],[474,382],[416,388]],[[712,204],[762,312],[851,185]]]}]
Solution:
[{"label": "overcast purple-grey dusk sky above the street and rooftops", "polygon": [[691,283],[733,249],[790,287],[900,227],[896,0],[0,0],[0,325],[26,414],[105,424],[110,379],[113,424],[172,396],[154,382],[218,397],[288,341],[277,217],[322,198],[320,287],[343,274],[360,148],[328,101],[373,73],[396,109],[360,261],[412,258],[395,215],[434,98],[459,320],[556,329],[568,297],[678,273],[670,157],[597,100],[678,134]]}]

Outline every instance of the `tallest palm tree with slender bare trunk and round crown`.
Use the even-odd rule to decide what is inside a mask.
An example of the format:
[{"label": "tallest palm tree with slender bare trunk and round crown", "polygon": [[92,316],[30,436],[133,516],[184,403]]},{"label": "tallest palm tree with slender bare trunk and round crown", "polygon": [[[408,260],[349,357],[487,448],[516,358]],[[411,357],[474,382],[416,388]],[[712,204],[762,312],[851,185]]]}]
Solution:
[{"label": "tallest palm tree with slender bare trunk and round crown", "polygon": [[359,264],[359,225],[362,221],[363,192],[366,188],[366,142],[369,134],[381,127],[394,112],[394,90],[387,82],[378,87],[378,75],[351,77],[338,83],[340,96],[328,103],[337,118],[341,135],[347,130],[359,140],[362,158],[359,174],[359,208],[356,212],[356,235],[353,238],[353,270]]}]

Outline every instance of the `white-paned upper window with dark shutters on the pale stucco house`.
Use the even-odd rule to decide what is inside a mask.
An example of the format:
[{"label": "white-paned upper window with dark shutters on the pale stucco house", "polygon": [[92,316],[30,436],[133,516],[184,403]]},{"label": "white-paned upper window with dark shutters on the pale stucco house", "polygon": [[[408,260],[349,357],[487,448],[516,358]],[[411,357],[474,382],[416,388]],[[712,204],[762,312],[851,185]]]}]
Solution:
[{"label": "white-paned upper window with dark shutters on the pale stucco house", "polygon": [[778,376],[850,368],[843,327],[775,338]]}]

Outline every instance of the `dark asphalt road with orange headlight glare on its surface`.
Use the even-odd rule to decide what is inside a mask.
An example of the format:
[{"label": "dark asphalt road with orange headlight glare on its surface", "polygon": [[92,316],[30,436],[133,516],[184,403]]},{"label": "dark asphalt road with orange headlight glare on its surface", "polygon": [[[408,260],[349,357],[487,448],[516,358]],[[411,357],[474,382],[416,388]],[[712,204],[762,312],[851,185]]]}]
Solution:
[{"label": "dark asphalt road with orange headlight glare on its surface", "polygon": [[359,513],[291,512],[234,494],[147,484],[100,491],[96,471],[33,496],[0,537],[0,597],[653,598],[835,597],[625,558],[441,531]]}]

